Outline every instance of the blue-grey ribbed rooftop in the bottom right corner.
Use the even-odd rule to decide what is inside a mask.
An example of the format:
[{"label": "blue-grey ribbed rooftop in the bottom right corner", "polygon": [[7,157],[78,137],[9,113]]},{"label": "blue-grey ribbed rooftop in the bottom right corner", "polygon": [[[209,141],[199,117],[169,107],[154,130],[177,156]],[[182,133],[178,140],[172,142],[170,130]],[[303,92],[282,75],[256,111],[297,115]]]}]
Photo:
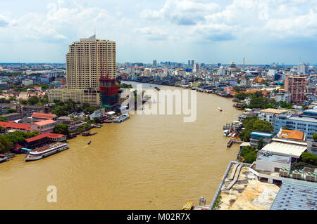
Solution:
[{"label": "blue-grey ribbed rooftop in the bottom right corner", "polygon": [[283,180],[271,210],[316,210],[317,183]]}]

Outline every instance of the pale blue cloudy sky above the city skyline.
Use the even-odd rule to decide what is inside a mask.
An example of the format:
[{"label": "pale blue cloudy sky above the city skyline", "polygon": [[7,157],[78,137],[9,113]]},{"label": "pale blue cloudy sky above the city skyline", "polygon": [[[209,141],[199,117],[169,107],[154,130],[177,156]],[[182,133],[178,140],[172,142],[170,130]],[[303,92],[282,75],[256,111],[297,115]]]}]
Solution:
[{"label": "pale blue cloudy sky above the city skyline", "polygon": [[317,62],[316,0],[0,0],[0,62],[66,62],[94,30],[117,62]]}]

